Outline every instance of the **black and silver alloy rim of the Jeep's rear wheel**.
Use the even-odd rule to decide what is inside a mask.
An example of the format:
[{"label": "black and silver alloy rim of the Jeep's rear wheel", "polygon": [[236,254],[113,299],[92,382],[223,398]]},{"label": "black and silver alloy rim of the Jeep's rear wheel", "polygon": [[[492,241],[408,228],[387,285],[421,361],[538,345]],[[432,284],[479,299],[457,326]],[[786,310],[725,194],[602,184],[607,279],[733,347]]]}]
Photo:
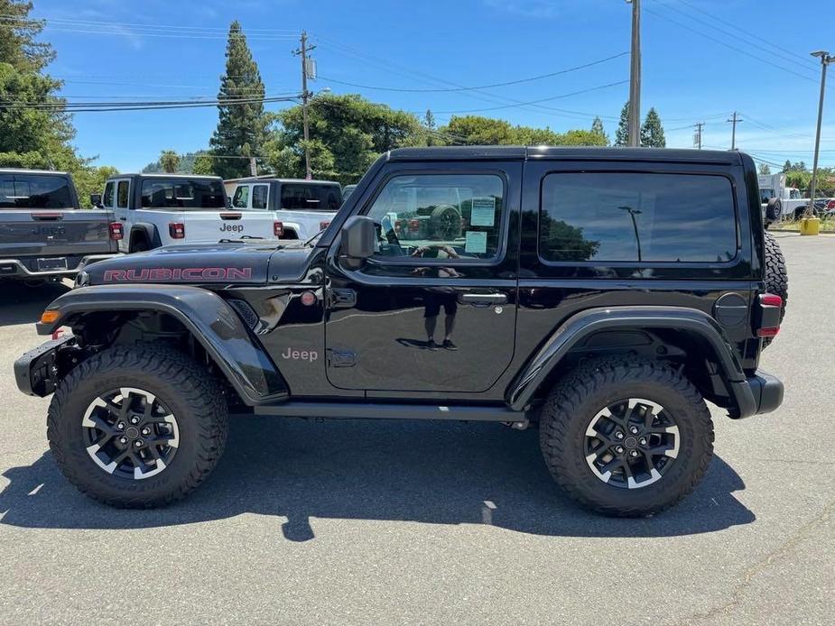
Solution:
[{"label": "black and silver alloy rim of the Jeep's rear wheel", "polygon": [[584,456],[603,483],[641,489],[661,480],[681,445],[673,415],[653,400],[628,398],[609,403],[591,419]]}]

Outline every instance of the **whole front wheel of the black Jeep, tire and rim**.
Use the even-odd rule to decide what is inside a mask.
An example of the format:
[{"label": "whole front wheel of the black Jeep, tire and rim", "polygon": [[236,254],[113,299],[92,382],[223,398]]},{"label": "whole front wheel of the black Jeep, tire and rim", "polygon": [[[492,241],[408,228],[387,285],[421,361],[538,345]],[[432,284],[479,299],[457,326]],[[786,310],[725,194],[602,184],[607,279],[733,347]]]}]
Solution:
[{"label": "whole front wheel of the black Jeep, tire and rim", "polygon": [[61,472],[119,507],[179,500],[217,464],[227,405],[206,368],[170,348],[114,347],[60,382],[47,437]]}]

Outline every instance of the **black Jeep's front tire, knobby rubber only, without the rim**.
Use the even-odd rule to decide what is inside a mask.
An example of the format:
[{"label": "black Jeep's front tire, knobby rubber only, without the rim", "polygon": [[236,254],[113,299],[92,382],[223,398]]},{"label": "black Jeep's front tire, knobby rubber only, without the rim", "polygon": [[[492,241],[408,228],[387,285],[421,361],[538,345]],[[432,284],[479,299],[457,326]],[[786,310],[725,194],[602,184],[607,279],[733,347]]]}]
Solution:
[{"label": "black Jeep's front tire, knobby rubber only, without the rim", "polygon": [[[107,474],[88,455],[81,422],[90,402],[119,387],[153,393],[171,410],[179,446],[160,474],[132,480]],[[227,403],[204,365],[172,348],[116,346],[90,357],[60,382],[47,419],[47,438],[60,471],[99,502],[150,509],[185,497],[202,483],[226,444]]]}]

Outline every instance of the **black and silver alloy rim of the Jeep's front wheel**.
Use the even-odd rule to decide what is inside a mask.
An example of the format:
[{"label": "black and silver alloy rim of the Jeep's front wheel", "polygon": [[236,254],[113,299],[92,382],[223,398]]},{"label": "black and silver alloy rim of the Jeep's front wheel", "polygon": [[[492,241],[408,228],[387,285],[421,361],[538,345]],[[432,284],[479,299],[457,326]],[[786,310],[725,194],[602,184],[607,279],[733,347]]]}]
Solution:
[{"label": "black and silver alloy rim of the Jeep's front wheel", "polygon": [[120,387],[97,396],[81,419],[93,462],[114,476],[143,480],[159,474],[177,454],[180,428],[150,391]]}]

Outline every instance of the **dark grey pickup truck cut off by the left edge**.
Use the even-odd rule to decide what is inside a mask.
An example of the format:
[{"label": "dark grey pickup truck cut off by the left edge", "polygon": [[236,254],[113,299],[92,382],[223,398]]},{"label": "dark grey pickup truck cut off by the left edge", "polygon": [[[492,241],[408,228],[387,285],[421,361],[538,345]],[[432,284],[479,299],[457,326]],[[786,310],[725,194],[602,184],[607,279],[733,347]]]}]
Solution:
[{"label": "dark grey pickup truck cut off by the left edge", "polygon": [[0,169],[0,280],[71,278],[122,236],[110,211],[79,208],[70,174]]}]

